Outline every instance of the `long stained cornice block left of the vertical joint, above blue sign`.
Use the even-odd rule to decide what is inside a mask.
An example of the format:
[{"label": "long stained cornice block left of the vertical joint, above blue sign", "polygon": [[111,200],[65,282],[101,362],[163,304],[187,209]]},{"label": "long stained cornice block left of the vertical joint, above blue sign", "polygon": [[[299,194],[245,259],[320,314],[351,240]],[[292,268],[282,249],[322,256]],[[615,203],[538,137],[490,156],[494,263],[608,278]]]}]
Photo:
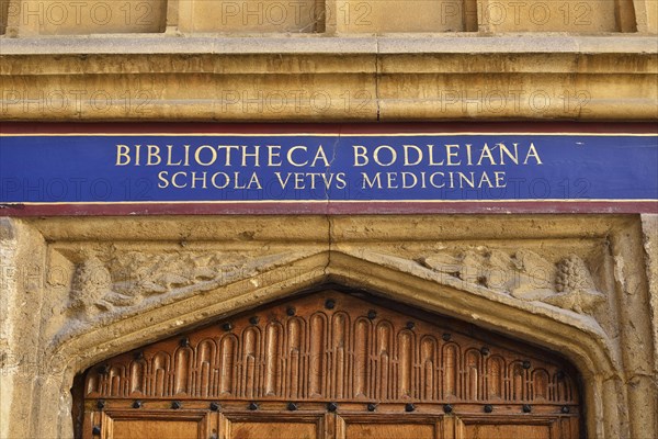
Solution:
[{"label": "long stained cornice block left of the vertical joint, above blue sign", "polygon": [[[224,68],[230,70],[229,65]],[[29,88],[24,80],[13,76],[3,82],[5,97],[21,97],[13,110],[23,116],[58,119],[75,112],[89,119],[154,120],[182,111],[188,114],[182,119],[246,121],[367,120],[376,115],[372,75],[360,72],[340,75],[340,82],[331,75],[311,78],[245,70],[109,75],[91,88],[84,85],[83,75],[32,77]]]}]

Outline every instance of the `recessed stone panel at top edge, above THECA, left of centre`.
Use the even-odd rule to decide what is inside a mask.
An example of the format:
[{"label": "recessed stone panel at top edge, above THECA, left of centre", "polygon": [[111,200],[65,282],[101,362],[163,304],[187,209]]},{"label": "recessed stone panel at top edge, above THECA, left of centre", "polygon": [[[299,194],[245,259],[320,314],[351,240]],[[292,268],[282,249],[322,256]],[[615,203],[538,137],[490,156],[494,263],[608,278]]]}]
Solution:
[{"label": "recessed stone panel at top edge, above THECA, left of centre", "polygon": [[317,0],[181,0],[181,32],[294,32],[324,31],[325,5]]}]

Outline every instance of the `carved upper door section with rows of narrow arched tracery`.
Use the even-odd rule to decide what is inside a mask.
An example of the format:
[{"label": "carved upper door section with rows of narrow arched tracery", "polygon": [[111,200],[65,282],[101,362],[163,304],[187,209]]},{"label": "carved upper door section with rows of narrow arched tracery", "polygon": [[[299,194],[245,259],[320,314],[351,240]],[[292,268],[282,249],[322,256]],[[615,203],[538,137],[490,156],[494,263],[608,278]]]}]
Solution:
[{"label": "carved upper door section with rows of narrow arched tracery", "polygon": [[563,359],[377,303],[329,291],[269,305],[92,368],[86,397],[578,405]]}]

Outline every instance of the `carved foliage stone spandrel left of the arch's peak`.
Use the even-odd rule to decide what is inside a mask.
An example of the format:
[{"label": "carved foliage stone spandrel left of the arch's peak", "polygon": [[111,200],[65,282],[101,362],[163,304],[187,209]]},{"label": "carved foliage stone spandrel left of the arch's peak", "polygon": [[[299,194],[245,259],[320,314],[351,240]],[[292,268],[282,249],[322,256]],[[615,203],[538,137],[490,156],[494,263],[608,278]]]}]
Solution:
[{"label": "carved foliage stone spandrel left of the arch's peak", "polygon": [[72,258],[79,262],[64,311],[78,324],[67,325],[63,331],[181,301],[306,256],[304,251],[75,252]]}]

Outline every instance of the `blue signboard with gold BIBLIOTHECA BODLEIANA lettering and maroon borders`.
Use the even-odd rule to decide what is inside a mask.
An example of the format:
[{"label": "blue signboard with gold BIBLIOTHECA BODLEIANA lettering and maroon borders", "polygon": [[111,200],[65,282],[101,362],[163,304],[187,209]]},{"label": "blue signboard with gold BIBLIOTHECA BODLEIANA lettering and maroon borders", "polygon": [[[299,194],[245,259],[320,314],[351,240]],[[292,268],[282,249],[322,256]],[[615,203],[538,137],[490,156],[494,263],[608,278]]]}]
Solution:
[{"label": "blue signboard with gold BIBLIOTHECA BODLEIANA lettering and maroon borders", "polygon": [[14,207],[601,202],[651,210],[658,201],[655,134],[9,134],[0,142],[0,203]]}]

